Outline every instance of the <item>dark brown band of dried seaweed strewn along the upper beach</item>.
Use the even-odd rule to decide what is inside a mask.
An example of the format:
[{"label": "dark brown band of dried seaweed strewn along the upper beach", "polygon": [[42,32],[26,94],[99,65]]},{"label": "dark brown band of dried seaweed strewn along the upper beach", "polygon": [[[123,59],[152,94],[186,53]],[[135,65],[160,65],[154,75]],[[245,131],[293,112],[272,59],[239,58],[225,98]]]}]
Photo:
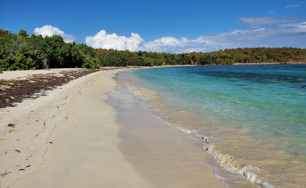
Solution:
[{"label": "dark brown band of dried seaweed strewn along the upper beach", "polygon": [[[44,94],[47,90],[53,90],[58,86],[73,79],[80,78],[84,75],[103,71],[112,70],[122,67],[102,67],[96,69],[89,68],[76,68],[72,70],[58,70],[47,74],[33,74],[27,76],[26,79],[0,79],[0,108],[15,106],[14,103],[20,103],[24,99],[35,99]],[[133,68],[133,67],[126,67]]]}]

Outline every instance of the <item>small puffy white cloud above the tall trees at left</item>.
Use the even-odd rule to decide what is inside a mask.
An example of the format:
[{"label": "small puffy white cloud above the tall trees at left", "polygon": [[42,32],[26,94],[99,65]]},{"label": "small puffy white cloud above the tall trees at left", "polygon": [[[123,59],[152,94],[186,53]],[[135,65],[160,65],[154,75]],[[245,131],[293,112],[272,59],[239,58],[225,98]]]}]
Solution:
[{"label": "small puffy white cloud above the tall trees at left", "polygon": [[41,28],[34,29],[35,35],[52,36],[52,35],[61,35],[65,42],[76,41],[76,38],[73,35],[66,35],[64,31],[60,30],[57,27],[52,27],[52,25],[44,25]]}]

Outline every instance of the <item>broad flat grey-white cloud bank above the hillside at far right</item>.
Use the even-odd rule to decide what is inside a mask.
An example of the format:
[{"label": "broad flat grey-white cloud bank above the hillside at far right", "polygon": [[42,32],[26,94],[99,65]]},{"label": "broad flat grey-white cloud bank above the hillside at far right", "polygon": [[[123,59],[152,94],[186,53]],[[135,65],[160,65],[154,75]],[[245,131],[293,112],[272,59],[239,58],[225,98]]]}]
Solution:
[{"label": "broad flat grey-white cloud bank above the hillside at far right", "polygon": [[197,41],[206,41],[217,49],[238,47],[282,47],[305,48],[306,22],[281,24],[276,27],[255,30],[234,30],[224,33],[202,35]]}]

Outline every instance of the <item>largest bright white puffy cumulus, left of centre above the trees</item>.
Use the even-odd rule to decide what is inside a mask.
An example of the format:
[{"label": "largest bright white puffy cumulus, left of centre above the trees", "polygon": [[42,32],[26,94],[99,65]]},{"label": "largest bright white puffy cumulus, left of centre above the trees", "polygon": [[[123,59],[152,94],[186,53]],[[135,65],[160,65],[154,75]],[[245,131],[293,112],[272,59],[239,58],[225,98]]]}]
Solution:
[{"label": "largest bright white puffy cumulus, left of centre above the trees", "polygon": [[117,50],[135,51],[144,41],[137,33],[131,33],[130,37],[118,36],[116,33],[106,34],[105,30],[99,31],[94,36],[87,36],[85,43],[93,48],[106,48]]}]

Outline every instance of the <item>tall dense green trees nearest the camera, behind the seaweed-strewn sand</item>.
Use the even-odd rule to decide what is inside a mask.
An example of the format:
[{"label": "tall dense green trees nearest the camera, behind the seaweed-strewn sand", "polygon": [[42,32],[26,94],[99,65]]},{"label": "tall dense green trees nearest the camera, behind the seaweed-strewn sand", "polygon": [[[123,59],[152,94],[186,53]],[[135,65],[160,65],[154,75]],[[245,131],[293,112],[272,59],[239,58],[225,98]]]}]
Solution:
[{"label": "tall dense green trees nearest the camera, behind the seaweed-strewn sand", "polygon": [[101,57],[86,44],[66,43],[60,35],[42,37],[20,30],[15,35],[0,32],[0,68],[35,70],[42,68],[99,68]]}]

